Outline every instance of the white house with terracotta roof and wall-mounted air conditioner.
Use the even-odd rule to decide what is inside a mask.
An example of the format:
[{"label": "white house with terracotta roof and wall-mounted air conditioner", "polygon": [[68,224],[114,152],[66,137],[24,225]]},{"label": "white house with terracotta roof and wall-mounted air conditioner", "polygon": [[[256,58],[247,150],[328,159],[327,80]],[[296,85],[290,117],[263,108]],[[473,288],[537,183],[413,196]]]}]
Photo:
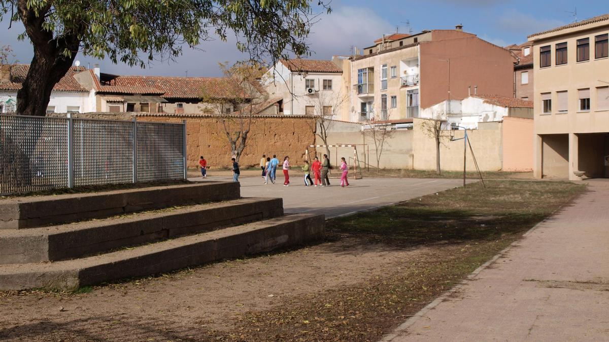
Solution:
[{"label": "white house with terracotta roof and wall-mounted air conditioner", "polygon": [[[262,77],[269,97],[281,99],[285,115],[333,116],[348,96],[343,89],[342,60],[280,60]],[[323,113],[318,113],[319,111]]]}]

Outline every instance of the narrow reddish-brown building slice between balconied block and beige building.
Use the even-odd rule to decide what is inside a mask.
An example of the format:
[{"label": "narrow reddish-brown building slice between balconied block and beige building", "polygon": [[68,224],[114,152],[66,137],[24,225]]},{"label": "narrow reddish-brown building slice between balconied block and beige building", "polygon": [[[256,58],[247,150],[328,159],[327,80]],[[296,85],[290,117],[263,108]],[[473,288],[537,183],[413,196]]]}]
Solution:
[{"label": "narrow reddish-brown building slice between balconied block and beige building", "polygon": [[533,100],[533,47],[530,41],[520,45],[505,47],[515,57],[514,63],[514,97]]}]

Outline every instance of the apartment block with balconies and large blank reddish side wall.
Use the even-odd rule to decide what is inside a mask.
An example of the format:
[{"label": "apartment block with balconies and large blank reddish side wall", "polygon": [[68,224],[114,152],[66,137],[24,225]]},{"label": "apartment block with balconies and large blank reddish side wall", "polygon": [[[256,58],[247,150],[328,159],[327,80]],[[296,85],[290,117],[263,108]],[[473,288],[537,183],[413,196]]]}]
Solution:
[{"label": "apartment block with balconies and large blank reddish side wall", "polygon": [[474,93],[513,96],[513,55],[462,26],[386,35],[363,52],[344,72],[351,89],[342,120],[404,120]]}]

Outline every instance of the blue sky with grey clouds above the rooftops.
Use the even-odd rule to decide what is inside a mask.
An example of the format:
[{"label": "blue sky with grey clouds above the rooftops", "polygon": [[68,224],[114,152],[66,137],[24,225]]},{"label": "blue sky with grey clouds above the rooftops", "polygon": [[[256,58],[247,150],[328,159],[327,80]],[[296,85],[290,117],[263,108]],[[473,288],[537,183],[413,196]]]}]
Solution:
[{"label": "blue sky with grey clouds above the rooftops", "polygon": [[[315,1],[312,1],[315,2]],[[327,2],[327,0],[326,0]],[[527,35],[576,20],[609,13],[606,0],[333,0],[332,12],[319,16],[311,28],[308,42],[312,49],[309,58],[329,59],[333,55],[350,55],[352,46],[366,47],[385,33],[421,32],[431,29],[463,30],[499,46],[524,43]],[[577,10],[577,17],[574,12]],[[32,46],[18,41],[23,26],[13,23],[9,29],[7,16],[0,22],[0,46],[13,47],[18,63],[29,63]],[[408,26],[406,23],[410,23]],[[79,54],[76,60],[87,66],[100,63],[101,71],[121,75],[220,76],[219,62],[244,59],[236,48],[236,39],[227,42],[214,40],[198,49],[184,48],[175,61],[155,61],[141,69],[114,65],[110,60],[95,60]]]}]

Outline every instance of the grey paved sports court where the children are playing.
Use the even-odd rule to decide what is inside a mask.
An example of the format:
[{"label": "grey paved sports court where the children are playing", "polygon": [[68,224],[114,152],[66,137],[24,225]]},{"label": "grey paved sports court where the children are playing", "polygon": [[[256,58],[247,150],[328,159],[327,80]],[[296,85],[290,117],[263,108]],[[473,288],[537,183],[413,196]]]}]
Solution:
[{"label": "grey paved sports court where the children are playing", "polygon": [[[210,176],[207,179],[232,180],[231,176]],[[242,176],[239,178],[241,196],[281,197],[286,214],[311,212],[331,218],[435,194],[463,184],[463,180],[451,179],[364,178],[350,179],[350,186],[343,188],[340,187],[338,178],[331,178],[329,187],[305,187],[301,176],[290,177],[290,181],[290,186],[283,186],[283,174],[278,174],[276,184],[265,185],[261,176]]]}]

